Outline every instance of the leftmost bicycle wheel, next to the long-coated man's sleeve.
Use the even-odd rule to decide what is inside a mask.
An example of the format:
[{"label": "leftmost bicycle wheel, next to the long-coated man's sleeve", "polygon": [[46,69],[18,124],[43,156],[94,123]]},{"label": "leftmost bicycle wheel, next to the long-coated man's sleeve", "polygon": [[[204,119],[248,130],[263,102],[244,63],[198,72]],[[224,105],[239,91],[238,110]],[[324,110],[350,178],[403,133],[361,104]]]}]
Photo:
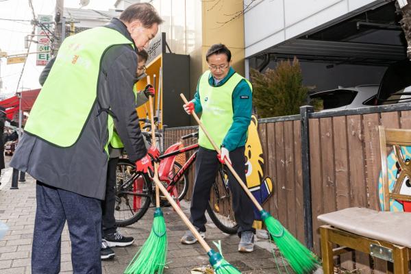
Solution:
[{"label": "leftmost bicycle wheel, next to the long-coated man's sleeve", "polygon": [[116,166],[116,225],[124,227],[136,223],[150,206],[151,182],[144,173],[136,173],[136,166],[121,159]]}]

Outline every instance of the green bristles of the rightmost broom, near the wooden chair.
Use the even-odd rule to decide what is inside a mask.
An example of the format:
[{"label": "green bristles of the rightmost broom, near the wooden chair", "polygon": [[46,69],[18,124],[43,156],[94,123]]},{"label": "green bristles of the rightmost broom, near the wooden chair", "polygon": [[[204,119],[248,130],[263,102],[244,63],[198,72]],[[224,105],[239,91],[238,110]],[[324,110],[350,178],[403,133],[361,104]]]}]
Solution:
[{"label": "green bristles of the rightmost broom, near the wooden chair", "polygon": [[319,266],[314,254],[292,236],[269,212],[261,210],[260,213],[271,234],[271,238],[275,241],[275,245],[277,245],[295,273],[312,273]]}]

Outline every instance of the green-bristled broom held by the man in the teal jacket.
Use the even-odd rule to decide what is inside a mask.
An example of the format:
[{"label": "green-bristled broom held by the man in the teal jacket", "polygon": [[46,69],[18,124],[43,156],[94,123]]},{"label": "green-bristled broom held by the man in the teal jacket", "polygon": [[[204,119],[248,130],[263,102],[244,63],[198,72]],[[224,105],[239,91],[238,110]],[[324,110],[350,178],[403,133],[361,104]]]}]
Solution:
[{"label": "green-bristled broom held by the man in the teal jacket", "polygon": [[[180,94],[180,97],[182,97],[184,103],[188,103],[186,97],[184,97],[183,94]],[[194,116],[204,134],[206,134],[214,149],[217,151],[217,153],[220,154],[221,151],[219,147],[216,146],[216,143],[214,142],[214,140],[212,140],[210,134],[208,134],[206,128],[204,127],[203,123],[201,123],[197,114],[195,114],[195,112],[192,112],[192,116]],[[242,182],[242,179],[238,176],[227,159],[225,159],[225,164],[227,165],[229,171],[231,171],[231,173],[237,179],[238,184],[240,184],[251,201],[253,201],[258,211],[260,211],[261,219],[264,221],[267,229],[269,230],[271,238],[273,238],[279,251],[282,253],[284,258],[286,258],[295,273],[305,274],[314,271],[319,266],[319,262],[316,259],[316,256],[314,256],[314,254],[310,250],[302,245],[299,240],[292,236],[292,234],[290,234],[290,232],[288,232],[288,230],[281,223],[279,223],[278,220],[274,219],[274,217],[271,216],[269,212],[266,212],[262,208],[260,203],[258,203],[256,198],[251,194],[250,190],[247,188],[247,185]]]}]

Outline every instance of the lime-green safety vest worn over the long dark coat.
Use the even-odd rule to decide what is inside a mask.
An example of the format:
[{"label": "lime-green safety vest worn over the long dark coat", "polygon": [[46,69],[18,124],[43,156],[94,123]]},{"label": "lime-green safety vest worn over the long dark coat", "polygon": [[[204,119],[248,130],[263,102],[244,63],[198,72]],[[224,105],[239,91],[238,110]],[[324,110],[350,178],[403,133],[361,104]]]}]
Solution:
[{"label": "lime-green safety vest worn over the long dark coat", "polygon": [[[103,54],[113,45],[125,44],[134,46],[123,34],[108,27],[67,37],[33,105],[25,132],[58,147],[74,145],[97,101]],[[108,140],[113,124],[108,115]]]}]

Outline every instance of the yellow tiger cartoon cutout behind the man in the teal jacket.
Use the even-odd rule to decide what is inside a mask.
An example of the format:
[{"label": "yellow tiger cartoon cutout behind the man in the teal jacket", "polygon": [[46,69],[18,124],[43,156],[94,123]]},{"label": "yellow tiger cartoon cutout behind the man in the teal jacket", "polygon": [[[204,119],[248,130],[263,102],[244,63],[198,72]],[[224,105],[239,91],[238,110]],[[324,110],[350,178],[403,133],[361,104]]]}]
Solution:
[{"label": "yellow tiger cartoon cutout behind the man in the teal jacket", "polygon": [[[264,158],[262,158],[262,146],[258,136],[258,120],[256,115],[251,116],[251,123],[248,128],[247,142],[245,143],[245,172],[247,187],[262,205],[273,194],[273,179],[264,177]],[[260,212],[254,207],[254,218],[261,220]],[[254,223],[256,228],[261,227],[260,223]]]}]

